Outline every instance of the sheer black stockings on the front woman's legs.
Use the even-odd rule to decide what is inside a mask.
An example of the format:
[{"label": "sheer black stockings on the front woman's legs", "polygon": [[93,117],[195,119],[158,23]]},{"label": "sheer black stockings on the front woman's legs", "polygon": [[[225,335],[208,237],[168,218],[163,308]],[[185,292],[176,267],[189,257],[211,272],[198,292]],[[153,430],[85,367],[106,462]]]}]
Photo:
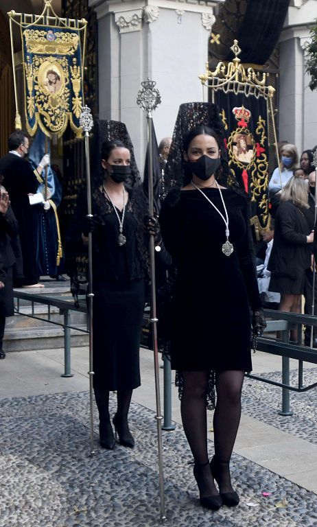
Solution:
[{"label": "sheer black stockings on the front woman's legs", "polygon": [[[198,465],[208,462],[206,393],[209,371],[183,371],[184,388],[180,412],[193,458]],[[217,403],[213,416],[215,458],[222,492],[231,491],[229,462],[241,416],[243,371],[221,371],[216,375]],[[213,480],[206,467],[206,484],[213,491]],[[213,492],[212,492],[213,493]],[[209,491],[210,495],[210,491]]]}]

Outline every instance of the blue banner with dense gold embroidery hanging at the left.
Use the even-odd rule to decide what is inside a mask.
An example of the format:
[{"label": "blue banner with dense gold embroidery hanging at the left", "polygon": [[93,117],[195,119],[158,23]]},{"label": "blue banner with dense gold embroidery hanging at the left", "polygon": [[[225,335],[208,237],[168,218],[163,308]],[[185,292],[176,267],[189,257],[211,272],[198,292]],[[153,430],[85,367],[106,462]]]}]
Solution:
[{"label": "blue banner with dense gold embroidery hanging at the left", "polygon": [[80,30],[71,27],[21,25],[27,132],[38,126],[49,137],[61,137],[71,125],[82,137],[83,102]]}]

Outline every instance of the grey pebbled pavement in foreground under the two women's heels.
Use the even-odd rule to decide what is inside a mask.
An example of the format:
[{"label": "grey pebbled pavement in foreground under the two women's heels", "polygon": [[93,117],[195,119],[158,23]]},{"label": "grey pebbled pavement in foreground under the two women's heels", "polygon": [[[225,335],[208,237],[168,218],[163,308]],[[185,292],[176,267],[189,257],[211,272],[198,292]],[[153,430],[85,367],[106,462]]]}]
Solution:
[{"label": "grey pebbled pavement in foreground under the two women's heels", "polygon": [[[244,398],[250,410],[248,390]],[[251,391],[256,405],[255,388]],[[110,405],[115,412],[114,399]],[[105,451],[96,441],[96,454],[90,457],[88,410],[87,392],[1,401],[0,527],[161,525],[154,413],[132,403],[135,448],[117,445]],[[163,432],[163,451],[166,525],[317,526],[316,494],[236,454],[232,471],[240,505],[207,511],[198,502],[191,454],[180,426]],[[270,495],[263,497],[263,491]]]}]

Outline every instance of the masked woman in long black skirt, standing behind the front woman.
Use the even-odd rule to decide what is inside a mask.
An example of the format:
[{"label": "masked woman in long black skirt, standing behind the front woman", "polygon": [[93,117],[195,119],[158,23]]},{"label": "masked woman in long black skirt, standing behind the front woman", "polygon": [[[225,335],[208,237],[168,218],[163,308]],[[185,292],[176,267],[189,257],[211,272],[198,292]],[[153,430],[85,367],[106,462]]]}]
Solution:
[{"label": "masked woman in long black skirt, standing behind the front woman", "polygon": [[119,443],[134,446],[128,425],[132,390],[140,385],[139,338],[144,309],[143,209],[139,189],[128,189],[130,150],[121,141],[102,144],[104,180],[93,191],[93,378],[100,445],[115,447],[108,410],[117,392],[113,425]]}]

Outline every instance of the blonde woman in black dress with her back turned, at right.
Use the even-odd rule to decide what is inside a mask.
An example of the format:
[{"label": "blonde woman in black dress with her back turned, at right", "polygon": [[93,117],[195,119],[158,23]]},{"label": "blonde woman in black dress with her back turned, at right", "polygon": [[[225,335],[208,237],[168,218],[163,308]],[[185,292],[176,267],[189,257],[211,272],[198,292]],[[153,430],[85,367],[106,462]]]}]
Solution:
[{"label": "blonde woman in black dress with her back turned, at right", "polygon": [[[314,231],[304,211],[308,209],[307,185],[302,178],[291,178],[283,187],[274,221],[274,244],[268,261],[271,272],[269,291],[281,293],[279,311],[300,313],[305,273],[311,265]],[[297,340],[297,330],[291,332]]]}]

